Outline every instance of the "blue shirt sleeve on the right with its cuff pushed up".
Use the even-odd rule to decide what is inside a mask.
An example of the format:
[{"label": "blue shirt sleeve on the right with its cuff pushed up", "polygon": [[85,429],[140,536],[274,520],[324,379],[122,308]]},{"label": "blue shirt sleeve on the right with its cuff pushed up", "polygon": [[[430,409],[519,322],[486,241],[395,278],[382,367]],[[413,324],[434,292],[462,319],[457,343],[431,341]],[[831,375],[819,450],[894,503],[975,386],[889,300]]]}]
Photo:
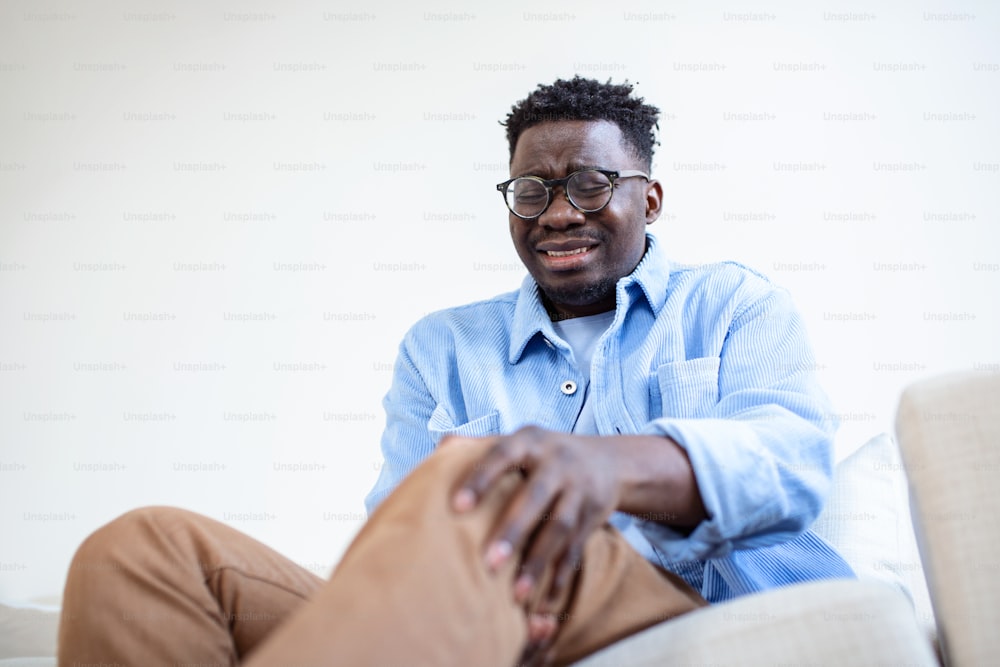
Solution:
[{"label": "blue shirt sleeve on the right with its cuff pushed up", "polygon": [[[708,515],[687,534],[637,522],[674,561],[794,539],[819,514],[831,483],[837,420],[788,293],[772,289],[737,312],[717,363],[718,400],[704,416],[664,417],[643,429],[685,449]],[[684,383],[676,389],[686,391]]]}]

